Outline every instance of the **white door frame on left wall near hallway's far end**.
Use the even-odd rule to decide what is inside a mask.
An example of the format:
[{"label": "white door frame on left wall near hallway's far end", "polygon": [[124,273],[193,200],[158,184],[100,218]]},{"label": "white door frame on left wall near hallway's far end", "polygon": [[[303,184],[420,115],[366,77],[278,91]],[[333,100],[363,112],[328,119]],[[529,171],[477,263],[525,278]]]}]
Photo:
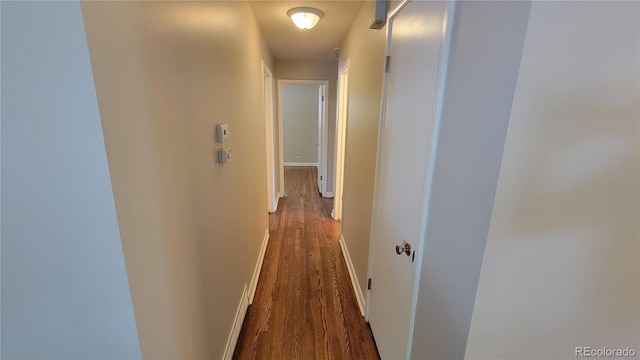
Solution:
[{"label": "white door frame on left wall near hallway's far end", "polygon": [[[264,99],[265,110],[265,156],[266,156],[266,174],[267,174],[267,211],[270,213],[278,210],[278,200],[281,192],[276,179],[276,153],[275,153],[275,131],[274,131],[274,98],[273,98],[273,73],[267,64],[262,61],[262,93]],[[282,179],[280,179],[280,182]]]}]

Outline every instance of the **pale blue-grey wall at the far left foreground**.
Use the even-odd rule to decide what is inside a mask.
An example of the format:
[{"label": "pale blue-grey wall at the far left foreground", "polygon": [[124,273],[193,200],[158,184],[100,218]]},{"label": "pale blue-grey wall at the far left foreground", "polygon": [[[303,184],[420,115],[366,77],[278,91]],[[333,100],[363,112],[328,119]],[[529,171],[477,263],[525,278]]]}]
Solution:
[{"label": "pale blue-grey wall at the far left foreground", "polygon": [[0,7],[0,355],[140,358],[80,3]]}]

